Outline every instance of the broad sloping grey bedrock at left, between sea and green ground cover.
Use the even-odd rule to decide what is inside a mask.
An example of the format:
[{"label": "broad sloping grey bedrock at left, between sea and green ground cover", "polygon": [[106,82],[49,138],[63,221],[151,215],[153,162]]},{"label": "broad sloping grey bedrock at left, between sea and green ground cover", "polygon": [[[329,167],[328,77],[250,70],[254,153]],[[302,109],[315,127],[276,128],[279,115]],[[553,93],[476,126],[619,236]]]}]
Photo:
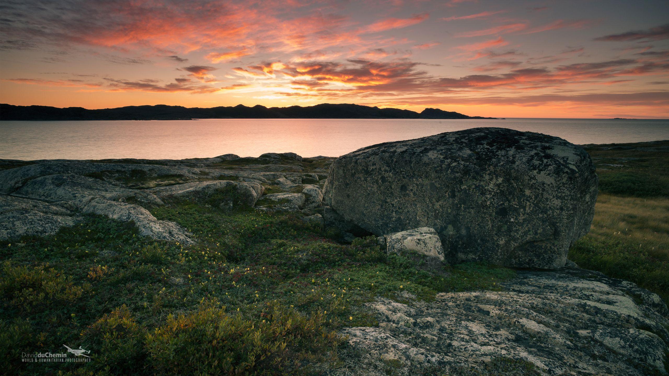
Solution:
[{"label": "broad sloping grey bedrock at left, between sea and green ground cover", "polygon": [[[64,225],[76,223],[78,213],[93,213],[119,221],[132,221],[144,236],[181,244],[192,243],[185,229],[170,221],[159,221],[141,206],[163,205],[156,195],[129,189],[113,179],[86,176],[102,178],[96,173],[126,178],[165,175],[199,177],[199,171],[189,167],[72,161],[47,161],[0,171],[0,190],[13,196],[3,196],[3,201],[7,205],[17,205],[14,210],[0,211],[3,229],[0,235],[3,238],[23,234],[47,235]],[[136,203],[126,203],[128,199]],[[17,219],[19,214],[23,216]]]}]

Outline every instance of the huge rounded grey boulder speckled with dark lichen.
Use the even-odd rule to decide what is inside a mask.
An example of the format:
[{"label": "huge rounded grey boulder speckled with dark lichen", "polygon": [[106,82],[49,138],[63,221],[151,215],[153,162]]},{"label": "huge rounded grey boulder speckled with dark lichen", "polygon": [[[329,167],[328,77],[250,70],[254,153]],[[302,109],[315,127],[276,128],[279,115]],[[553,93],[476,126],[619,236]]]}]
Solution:
[{"label": "huge rounded grey boulder speckled with dark lichen", "polygon": [[597,175],[562,138],[473,128],[339,157],[325,201],[377,236],[436,229],[446,259],[561,268],[590,228]]}]

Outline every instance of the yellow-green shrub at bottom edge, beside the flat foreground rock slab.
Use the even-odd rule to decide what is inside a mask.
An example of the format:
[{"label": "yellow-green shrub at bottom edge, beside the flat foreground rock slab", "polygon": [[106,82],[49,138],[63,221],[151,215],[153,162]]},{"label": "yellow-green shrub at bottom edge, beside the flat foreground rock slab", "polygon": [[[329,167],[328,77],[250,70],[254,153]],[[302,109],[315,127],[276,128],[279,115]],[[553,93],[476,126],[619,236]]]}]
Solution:
[{"label": "yellow-green shrub at bottom edge, beside the flat foreground rock slab", "polygon": [[262,317],[250,320],[207,303],[170,315],[145,339],[151,364],[163,375],[278,375],[304,357],[294,349],[322,351],[341,342],[322,328],[322,312],[302,315],[274,306]]}]

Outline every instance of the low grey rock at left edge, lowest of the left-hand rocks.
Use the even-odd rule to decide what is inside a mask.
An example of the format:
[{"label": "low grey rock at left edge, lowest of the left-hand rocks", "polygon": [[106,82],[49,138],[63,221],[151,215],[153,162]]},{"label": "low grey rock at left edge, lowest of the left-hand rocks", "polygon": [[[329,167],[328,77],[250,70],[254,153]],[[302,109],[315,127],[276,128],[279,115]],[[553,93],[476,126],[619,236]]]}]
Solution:
[{"label": "low grey rock at left edge, lowest of the left-hand rocks", "polygon": [[77,221],[75,213],[62,206],[0,195],[0,239],[50,235]]}]

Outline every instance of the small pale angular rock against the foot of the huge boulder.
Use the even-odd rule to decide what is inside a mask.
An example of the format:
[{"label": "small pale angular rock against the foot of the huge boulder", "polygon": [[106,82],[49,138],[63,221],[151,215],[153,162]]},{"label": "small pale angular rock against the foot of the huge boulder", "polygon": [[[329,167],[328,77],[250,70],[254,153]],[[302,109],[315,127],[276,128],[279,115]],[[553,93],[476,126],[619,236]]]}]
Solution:
[{"label": "small pale angular rock against the foot of the huge boulder", "polygon": [[415,252],[444,261],[444,248],[437,231],[432,227],[419,227],[390,233],[383,236],[386,252],[399,254],[401,252]]}]

